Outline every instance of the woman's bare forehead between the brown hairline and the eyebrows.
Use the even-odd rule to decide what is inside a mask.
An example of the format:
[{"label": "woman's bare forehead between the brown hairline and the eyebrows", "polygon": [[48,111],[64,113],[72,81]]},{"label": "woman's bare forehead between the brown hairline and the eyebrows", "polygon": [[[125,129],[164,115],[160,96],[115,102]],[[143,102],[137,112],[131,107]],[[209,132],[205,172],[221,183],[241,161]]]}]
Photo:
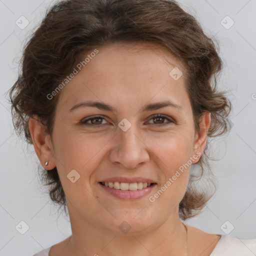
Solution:
[{"label": "woman's bare forehead between the brown hairline and the eyebrows", "polygon": [[[98,53],[93,54],[94,57],[61,90],[59,101],[71,107],[83,99],[131,103],[136,99],[159,98],[166,93],[173,97],[184,95],[185,70],[181,61],[166,48],[142,42],[113,43],[97,47],[97,50]],[[81,60],[88,54],[86,52]],[[183,73],[178,80],[169,74],[173,68]]]}]

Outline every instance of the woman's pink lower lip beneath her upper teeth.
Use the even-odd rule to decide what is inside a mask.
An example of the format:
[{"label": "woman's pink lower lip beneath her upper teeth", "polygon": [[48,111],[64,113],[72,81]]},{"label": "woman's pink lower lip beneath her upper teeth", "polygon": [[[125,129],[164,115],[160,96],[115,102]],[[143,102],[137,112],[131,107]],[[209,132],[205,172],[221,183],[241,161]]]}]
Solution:
[{"label": "woman's pink lower lip beneath her upper teeth", "polygon": [[104,186],[101,183],[98,183],[105,191],[110,193],[111,195],[121,198],[121,199],[139,199],[151,192],[151,190],[156,186],[156,183],[152,184],[151,186],[147,186],[142,189],[137,190],[121,190],[121,189],[115,189],[111,188],[109,186]]}]

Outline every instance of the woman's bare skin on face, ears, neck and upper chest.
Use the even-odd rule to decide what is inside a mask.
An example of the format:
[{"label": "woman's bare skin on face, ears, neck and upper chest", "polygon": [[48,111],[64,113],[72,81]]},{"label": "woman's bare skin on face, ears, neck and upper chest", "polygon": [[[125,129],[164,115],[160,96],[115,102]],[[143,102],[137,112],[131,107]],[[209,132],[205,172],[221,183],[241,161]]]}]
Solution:
[{"label": "woman's bare skin on face, ears, neck and upper chest", "polygon": [[[148,197],[189,157],[203,153],[210,114],[202,116],[196,133],[184,85],[185,69],[165,48],[148,45],[98,47],[96,56],[59,92],[52,139],[36,119],[30,118],[40,163],[47,169],[57,167],[72,229],[72,235],[53,246],[50,255],[186,255],[186,233],[178,204],[187,188],[190,166],[154,202]],[[174,66],[183,72],[178,80],[169,75]],[[86,100],[107,103],[117,112],[96,107],[69,111]],[[141,111],[144,104],[163,100],[182,108]],[[173,122],[157,121],[152,118],[154,114],[163,114]],[[102,119],[81,123],[93,115]],[[118,126],[123,118],[131,123],[126,131]],[[95,124],[101,127],[93,128]],[[192,158],[191,163],[198,160]],[[72,169],[80,175],[74,183],[66,177]],[[157,185],[140,199],[123,200],[98,184],[114,176],[146,177]],[[125,234],[118,228],[123,221],[131,227]],[[219,236],[186,226],[188,255],[210,255]]]}]

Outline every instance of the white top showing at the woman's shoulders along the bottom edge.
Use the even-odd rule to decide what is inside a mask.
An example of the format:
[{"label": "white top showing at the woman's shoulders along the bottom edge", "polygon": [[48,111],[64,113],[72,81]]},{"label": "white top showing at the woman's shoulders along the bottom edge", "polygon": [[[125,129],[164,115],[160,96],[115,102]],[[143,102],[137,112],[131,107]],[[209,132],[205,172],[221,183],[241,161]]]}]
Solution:
[{"label": "white top showing at the woman's shoulders along the bottom edge", "polygon": [[[210,256],[255,256],[256,255],[256,239],[239,239],[231,235],[221,235]],[[52,246],[54,246],[53,244]],[[33,256],[49,256],[50,248],[43,249]]]}]

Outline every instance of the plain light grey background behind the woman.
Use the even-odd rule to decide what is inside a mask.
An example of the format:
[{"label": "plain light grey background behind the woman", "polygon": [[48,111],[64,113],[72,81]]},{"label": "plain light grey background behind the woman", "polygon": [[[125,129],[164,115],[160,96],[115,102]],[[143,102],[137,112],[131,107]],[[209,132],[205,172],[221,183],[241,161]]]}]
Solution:
[{"label": "plain light grey background behind the woman", "polygon": [[[256,238],[256,0],[179,2],[218,40],[225,61],[219,84],[233,93],[233,127],[224,140],[213,144],[221,158],[211,163],[218,190],[203,213],[185,222],[224,234],[221,226],[228,220],[224,227],[234,226],[230,235]],[[17,77],[24,38],[51,4],[51,0],[0,0],[0,255],[32,255],[71,234],[68,219],[60,215],[56,220],[57,208],[42,193],[37,156],[17,140],[4,95]],[[24,29],[15,24],[21,15],[29,20]],[[221,24],[226,15],[234,21],[229,29]],[[231,24],[228,18],[222,22]],[[15,229],[21,220],[29,226],[23,235]]]}]

